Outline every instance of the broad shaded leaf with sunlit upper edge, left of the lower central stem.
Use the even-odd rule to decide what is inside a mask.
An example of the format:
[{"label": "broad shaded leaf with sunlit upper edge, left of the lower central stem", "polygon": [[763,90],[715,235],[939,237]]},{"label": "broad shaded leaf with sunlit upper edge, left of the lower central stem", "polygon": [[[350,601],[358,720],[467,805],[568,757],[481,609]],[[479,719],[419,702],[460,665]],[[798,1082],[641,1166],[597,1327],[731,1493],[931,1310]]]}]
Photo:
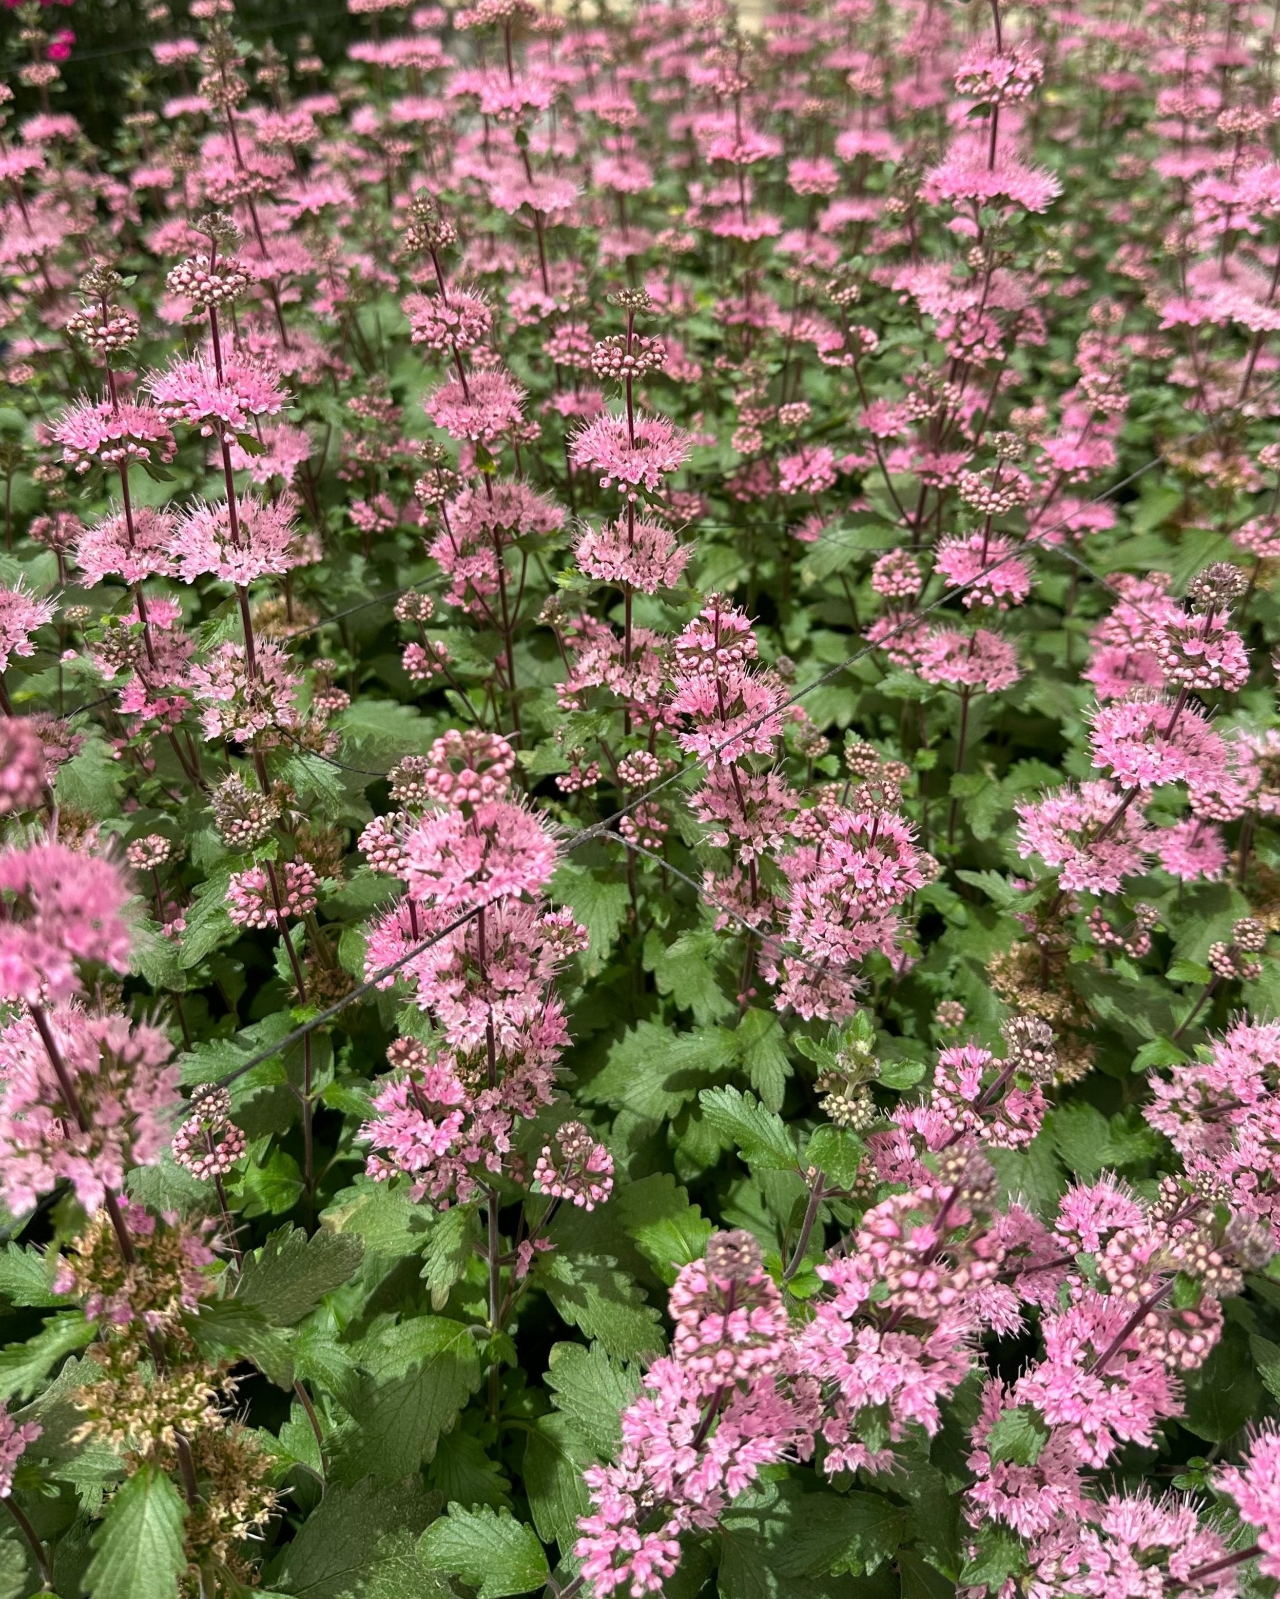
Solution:
[{"label": "broad shaded leaf with sunlit upper edge, left of the lower central stem", "polygon": [[480,1386],[470,1329],[442,1316],[416,1316],[357,1346],[366,1374],[354,1385],[352,1423],[342,1430],[334,1471],[395,1482],[430,1460],[443,1431]]}]

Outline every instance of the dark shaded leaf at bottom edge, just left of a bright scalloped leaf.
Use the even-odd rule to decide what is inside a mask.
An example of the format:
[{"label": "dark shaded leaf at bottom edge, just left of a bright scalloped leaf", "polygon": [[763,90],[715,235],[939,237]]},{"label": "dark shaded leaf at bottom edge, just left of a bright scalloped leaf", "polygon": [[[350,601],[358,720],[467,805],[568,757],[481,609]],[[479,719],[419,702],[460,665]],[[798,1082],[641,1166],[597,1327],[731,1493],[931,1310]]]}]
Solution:
[{"label": "dark shaded leaf at bottom edge, just left of a bright scalloped leaf", "polygon": [[269,1569],[270,1585],[298,1599],[448,1599],[450,1586],[418,1557],[438,1505],[421,1477],[331,1482]]}]

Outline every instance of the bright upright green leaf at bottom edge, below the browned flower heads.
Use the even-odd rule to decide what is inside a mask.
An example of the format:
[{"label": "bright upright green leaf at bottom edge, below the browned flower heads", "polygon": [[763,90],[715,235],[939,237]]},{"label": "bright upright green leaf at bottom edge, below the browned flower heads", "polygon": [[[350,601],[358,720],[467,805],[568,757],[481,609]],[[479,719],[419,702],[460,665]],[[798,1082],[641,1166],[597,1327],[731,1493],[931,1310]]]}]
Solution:
[{"label": "bright upright green leaf at bottom edge, below the browned flower heads", "polygon": [[157,1466],[141,1466],[114,1495],[93,1537],[86,1572],[93,1599],[176,1599],[187,1567],[187,1506]]}]

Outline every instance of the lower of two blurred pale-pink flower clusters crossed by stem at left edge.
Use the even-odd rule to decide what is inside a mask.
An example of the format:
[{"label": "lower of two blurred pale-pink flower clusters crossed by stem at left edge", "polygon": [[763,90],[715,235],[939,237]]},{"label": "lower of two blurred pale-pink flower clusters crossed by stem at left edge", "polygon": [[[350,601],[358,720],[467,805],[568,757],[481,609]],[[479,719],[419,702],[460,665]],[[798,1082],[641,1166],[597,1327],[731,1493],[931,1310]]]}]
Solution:
[{"label": "lower of two blurred pale-pink flower clusters crossed by stem at left edge", "polygon": [[[58,1182],[70,1182],[86,1210],[118,1193],[133,1166],[154,1166],[178,1110],[178,1067],[168,1038],[123,1015],[54,1009],[45,1020],[62,1063],[24,1017],[0,1031],[0,1193],[29,1210]],[[75,1092],[67,1103],[62,1076]]]}]

